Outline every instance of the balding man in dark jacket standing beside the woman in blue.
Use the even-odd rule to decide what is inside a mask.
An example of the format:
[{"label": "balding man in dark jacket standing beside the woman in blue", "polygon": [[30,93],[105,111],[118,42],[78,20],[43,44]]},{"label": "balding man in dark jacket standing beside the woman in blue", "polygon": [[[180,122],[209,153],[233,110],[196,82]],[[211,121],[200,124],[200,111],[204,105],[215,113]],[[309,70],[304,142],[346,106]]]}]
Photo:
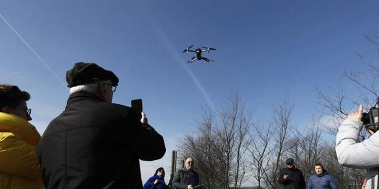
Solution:
[{"label": "balding man in dark jacket standing beside the woman in blue", "polygon": [[184,163],[184,169],[175,172],[172,178],[172,186],[176,189],[192,189],[194,186],[199,187],[199,173],[194,170],[195,160],[191,157],[187,158]]}]

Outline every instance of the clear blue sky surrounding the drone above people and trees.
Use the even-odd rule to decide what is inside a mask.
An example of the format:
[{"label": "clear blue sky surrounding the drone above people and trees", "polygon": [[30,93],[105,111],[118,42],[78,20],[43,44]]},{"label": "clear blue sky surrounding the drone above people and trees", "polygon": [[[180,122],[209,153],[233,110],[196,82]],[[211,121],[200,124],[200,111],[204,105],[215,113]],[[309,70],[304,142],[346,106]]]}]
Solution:
[{"label": "clear blue sky surrounding the drone above people and trees", "polygon": [[[120,79],[113,102],[141,98],[166,155],[141,161],[145,182],[196,130],[201,107],[223,106],[238,90],[254,118],[272,116],[286,96],[293,124],[312,119],[316,86],[335,86],[343,71],[373,55],[364,34],[379,34],[377,1],[14,1],[0,2],[0,83],[31,94],[32,124],[42,134],[69,96],[75,62],[96,62]],[[214,62],[182,53],[216,51]],[[169,178],[166,177],[168,181]]]}]

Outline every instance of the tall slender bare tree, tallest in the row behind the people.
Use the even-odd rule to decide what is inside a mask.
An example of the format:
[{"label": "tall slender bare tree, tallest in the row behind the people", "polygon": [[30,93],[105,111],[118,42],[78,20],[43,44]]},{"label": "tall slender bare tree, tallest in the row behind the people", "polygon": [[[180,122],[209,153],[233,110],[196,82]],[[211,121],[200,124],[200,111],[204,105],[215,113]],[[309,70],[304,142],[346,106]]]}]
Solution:
[{"label": "tall slender bare tree, tallest in the row behind the people", "polygon": [[221,113],[221,127],[216,133],[222,149],[223,188],[229,188],[230,184],[238,187],[244,181],[246,163],[243,156],[251,119],[251,113],[245,109],[238,91],[232,92],[226,102]]}]

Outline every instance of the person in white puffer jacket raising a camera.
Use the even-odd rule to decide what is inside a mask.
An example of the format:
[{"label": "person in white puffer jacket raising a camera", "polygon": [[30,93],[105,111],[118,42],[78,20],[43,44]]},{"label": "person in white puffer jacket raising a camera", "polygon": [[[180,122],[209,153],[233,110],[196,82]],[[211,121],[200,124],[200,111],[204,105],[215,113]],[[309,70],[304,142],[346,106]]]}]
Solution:
[{"label": "person in white puffer jacket raising a camera", "polygon": [[[377,188],[379,170],[379,132],[370,133],[370,138],[360,140],[363,129],[362,120],[363,106],[360,105],[358,112],[348,115],[338,129],[336,136],[336,153],[339,164],[357,169],[366,169],[367,173],[363,182],[364,188]],[[377,120],[375,120],[377,121]]]}]

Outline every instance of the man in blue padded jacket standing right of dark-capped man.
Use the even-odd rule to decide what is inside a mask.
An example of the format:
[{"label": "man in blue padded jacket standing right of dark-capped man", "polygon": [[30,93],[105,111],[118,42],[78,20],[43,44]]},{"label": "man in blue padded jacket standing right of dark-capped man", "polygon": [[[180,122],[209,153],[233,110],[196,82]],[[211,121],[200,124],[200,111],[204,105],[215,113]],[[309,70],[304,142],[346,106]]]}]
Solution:
[{"label": "man in blue padded jacket standing right of dark-capped man", "polygon": [[307,189],[338,189],[337,180],[330,175],[322,166],[317,163],[314,172],[307,182]]}]

